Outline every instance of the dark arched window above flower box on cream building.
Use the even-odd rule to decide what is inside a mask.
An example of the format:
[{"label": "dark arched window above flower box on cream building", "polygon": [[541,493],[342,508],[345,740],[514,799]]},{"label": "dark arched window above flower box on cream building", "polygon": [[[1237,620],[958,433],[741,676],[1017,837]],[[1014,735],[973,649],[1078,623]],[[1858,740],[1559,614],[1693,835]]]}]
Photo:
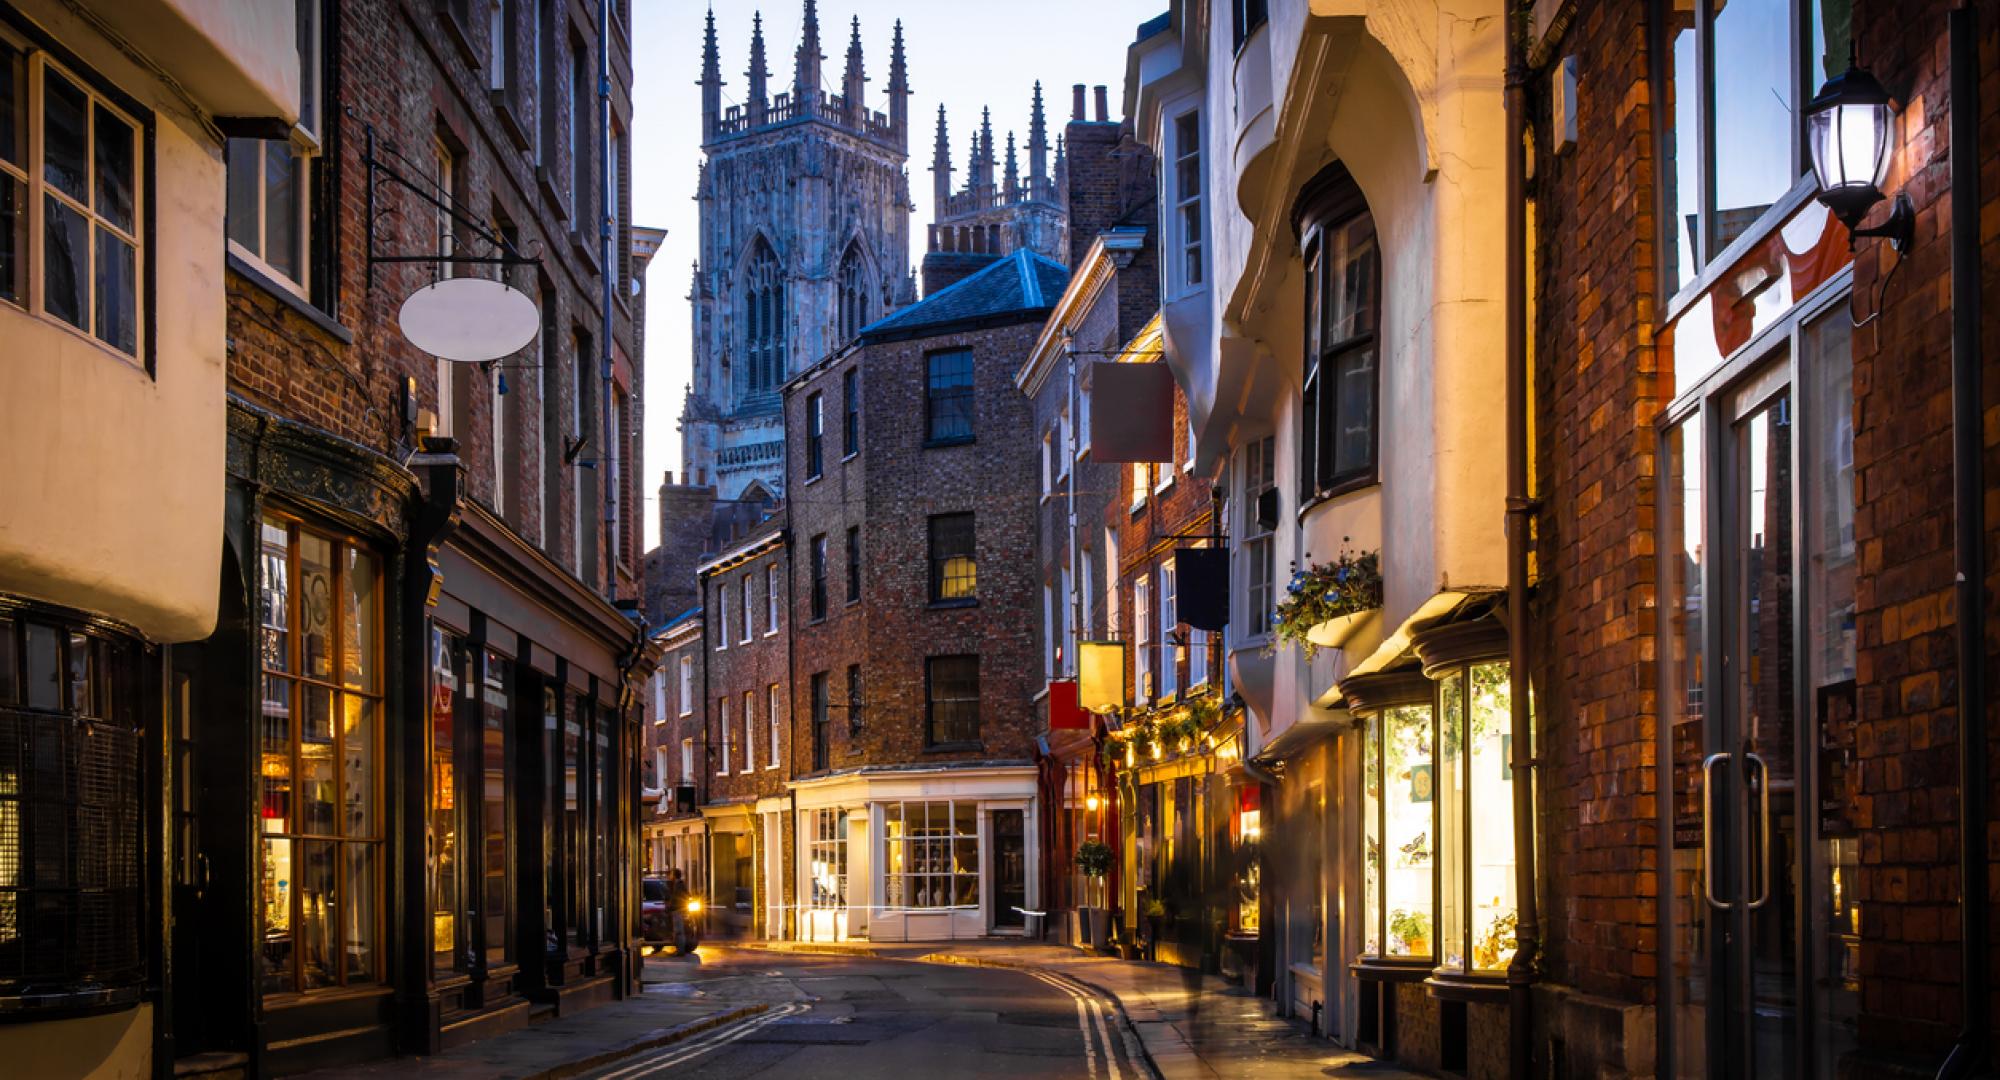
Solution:
[{"label": "dark arched window above flower box on cream building", "polygon": [[1306,372],[1300,404],[1300,502],[1374,482],[1376,284],[1374,218],[1334,162],[1298,200],[1306,252]]}]

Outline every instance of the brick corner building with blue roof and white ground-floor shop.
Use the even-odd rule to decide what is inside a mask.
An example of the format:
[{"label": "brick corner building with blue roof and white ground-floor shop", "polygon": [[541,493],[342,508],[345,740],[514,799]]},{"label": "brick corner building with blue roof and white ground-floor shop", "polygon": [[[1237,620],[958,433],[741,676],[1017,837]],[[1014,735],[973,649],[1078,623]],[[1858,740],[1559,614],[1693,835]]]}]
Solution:
[{"label": "brick corner building with blue roof and white ground-floor shop", "polygon": [[800,938],[1028,932],[1038,910],[1030,250],[786,388]]}]

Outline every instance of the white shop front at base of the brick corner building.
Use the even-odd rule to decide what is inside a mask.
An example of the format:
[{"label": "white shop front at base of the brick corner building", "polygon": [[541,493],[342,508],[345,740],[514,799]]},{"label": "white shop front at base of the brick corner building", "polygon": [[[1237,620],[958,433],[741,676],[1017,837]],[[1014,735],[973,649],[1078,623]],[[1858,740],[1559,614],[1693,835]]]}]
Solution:
[{"label": "white shop front at base of the brick corner building", "polygon": [[792,790],[802,940],[1042,934],[1034,766],[864,766]]}]

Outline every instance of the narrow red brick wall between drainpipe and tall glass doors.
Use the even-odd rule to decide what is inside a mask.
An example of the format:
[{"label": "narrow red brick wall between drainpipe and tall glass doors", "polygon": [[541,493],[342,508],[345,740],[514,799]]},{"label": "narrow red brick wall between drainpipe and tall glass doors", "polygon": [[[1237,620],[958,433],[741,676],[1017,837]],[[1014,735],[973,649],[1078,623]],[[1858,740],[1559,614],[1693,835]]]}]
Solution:
[{"label": "narrow red brick wall between drainpipe and tall glass doors", "polygon": [[[1644,4],[1578,4],[1556,54],[1576,54],[1580,90],[1574,152],[1534,158],[1534,426],[1560,432],[1538,442],[1534,460],[1544,962],[1554,982],[1652,1002],[1660,944],[1650,530],[1654,418],[1672,380],[1652,348]],[[1548,100],[1546,72],[1534,100]],[[1578,236],[1590,242],[1576,244]]]}]

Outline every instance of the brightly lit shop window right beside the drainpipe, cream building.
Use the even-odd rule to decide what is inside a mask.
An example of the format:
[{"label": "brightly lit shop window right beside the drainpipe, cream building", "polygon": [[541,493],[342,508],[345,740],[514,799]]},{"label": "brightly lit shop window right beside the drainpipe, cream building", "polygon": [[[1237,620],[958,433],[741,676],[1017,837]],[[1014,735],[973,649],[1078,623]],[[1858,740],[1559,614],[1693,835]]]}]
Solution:
[{"label": "brightly lit shop window right beside the drainpipe, cream building", "polygon": [[1430,674],[1438,684],[1438,976],[1500,976],[1514,958],[1516,912],[1508,666],[1452,662]]}]

